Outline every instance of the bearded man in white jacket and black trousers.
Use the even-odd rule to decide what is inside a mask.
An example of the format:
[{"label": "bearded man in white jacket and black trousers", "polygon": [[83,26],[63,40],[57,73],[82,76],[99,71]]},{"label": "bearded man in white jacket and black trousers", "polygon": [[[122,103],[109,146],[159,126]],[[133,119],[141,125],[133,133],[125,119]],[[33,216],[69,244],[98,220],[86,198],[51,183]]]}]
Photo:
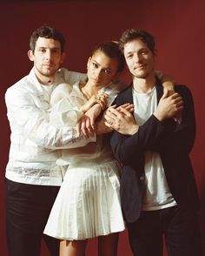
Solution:
[{"label": "bearded man in white jacket and black trousers", "polygon": [[40,255],[44,237],[50,255],[58,255],[58,241],[43,236],[43,229],[63,180],[56,165],[59,150],[96,141],[76,135],[72,127],[49,123],[50,94],[58,84],[74,84],[86,75],[60,68],[64,59],[63,35],[43,26],[30,37],[30,74],[5,94],[10,121],[10,158],[6,168],[6,219],[10,256]]}]

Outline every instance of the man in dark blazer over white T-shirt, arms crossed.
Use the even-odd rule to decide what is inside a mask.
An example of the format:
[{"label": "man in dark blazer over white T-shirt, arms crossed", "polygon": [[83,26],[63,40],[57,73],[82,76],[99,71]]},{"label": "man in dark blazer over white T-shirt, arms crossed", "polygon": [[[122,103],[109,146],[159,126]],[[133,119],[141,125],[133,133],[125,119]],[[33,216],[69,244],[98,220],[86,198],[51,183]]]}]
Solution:
[{"label": "man in dark blazer over white T-shirt, arms crossed", "polygon": [[[120,47],[133,83],[110,108],[107,125],[115,131],[111,146],[122,163],[121,196],[129,243],[137,256],[162,255],[162,235],[169,255],[200,254],[196,212],[199,200],[188,153],[195,142],[195,111],[190,91],[162,89],[155,77],[155,40],[144,30],[126,30]],[[176,116],[181,118],[175,120]]]}]

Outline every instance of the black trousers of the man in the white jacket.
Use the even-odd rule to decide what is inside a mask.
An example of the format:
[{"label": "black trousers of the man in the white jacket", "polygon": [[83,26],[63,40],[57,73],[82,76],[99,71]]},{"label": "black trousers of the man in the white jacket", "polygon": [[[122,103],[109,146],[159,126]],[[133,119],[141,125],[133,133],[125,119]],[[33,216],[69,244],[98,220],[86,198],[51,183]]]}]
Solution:
[{"label": "black trousers of the man in the white jacket", "polygon": [[42,238],[58,256],[59,240],[43,235],[59,186],[27,185],[6,179],[6,227],[9,256],[39,256]]}]

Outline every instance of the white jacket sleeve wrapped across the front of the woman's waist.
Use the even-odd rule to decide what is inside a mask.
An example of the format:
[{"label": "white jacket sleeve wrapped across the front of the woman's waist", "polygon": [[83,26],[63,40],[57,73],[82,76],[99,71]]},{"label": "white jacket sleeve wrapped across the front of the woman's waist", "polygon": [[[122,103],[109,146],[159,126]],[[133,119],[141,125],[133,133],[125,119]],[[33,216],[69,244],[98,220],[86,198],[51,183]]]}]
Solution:
[{"label": "white jacket sleeve wrapped across the front of the woman's waist", "polygon": [[96,136],[85,139],[83,135],[77,135],[75,127],[50,125],[49,112],[39,107],[35,100],[27,91],[7,90],[5,101],[13,133],[23,134],[23,137],[47,149],[75,148],[96,141]]}]

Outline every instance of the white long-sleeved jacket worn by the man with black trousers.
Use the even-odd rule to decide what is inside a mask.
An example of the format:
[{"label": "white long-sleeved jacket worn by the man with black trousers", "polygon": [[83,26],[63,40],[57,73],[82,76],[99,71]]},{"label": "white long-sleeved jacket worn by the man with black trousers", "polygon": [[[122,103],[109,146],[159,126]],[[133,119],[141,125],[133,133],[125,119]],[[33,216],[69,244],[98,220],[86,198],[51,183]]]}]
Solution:
[{"label": "white long-sleeved jacket worn by the man with black trousers", "polygon": [[[74,84],[85,74],[60,69],[55,84]],[[76,128],[50,125],[50,93],[36,79],[35,71],[12,85],[5,94],[10,121],[10,158],[6,178],[34,185],[61,185],[64,170],[56,165],[60,149],[87,145],[96,137],[76,136]]]}]

